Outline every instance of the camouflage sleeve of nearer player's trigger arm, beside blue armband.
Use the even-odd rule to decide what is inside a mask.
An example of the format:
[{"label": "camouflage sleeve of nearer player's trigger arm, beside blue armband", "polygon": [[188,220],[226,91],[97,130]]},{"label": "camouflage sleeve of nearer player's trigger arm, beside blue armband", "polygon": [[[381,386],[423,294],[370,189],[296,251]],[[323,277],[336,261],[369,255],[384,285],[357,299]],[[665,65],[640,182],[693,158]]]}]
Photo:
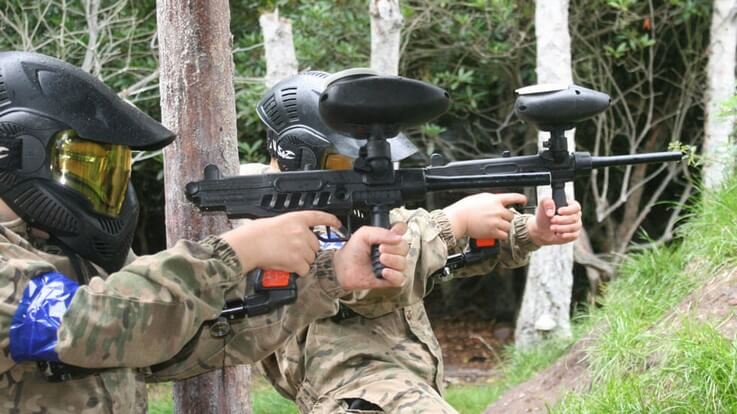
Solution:
[{"label": "camouflage sleeve of nearer player's trigger arm, beside blue armband", "polygon": [[95,368],[167,360],[220,314],[224,291],[242,274],[231,247],[209,237],[139,257],[105,280],[95,277],[79,288],[62,318],[59,358]]}]

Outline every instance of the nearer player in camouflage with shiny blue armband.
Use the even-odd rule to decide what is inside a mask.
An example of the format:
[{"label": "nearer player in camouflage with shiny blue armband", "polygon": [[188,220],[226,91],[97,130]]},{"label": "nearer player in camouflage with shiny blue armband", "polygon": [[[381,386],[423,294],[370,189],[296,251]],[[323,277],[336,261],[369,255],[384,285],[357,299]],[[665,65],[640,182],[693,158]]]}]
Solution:
[{"label": "nearer player in camouflage with shiny blue armband", "polygon": [[[401,225],[322,252],[311,228],[340,222],[313,211],[136,258],[131,149],[173,139],[79,68],[0,52],[0,411],[146,412],[146,367],[196,338],[252,268],[303,276],[295,304],[249,321],[262,354],[337,312],[346,289],[404,283]],[[378,284],[372,244],[385,253]]]}]

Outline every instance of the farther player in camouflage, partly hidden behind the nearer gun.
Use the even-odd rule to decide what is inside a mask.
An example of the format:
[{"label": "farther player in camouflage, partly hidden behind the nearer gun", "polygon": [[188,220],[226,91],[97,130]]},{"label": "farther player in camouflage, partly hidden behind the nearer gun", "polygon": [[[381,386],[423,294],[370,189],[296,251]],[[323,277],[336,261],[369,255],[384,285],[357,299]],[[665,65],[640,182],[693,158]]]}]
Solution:
[{"label": "farther player in camouflage, partly hidden behind the nearer gun", "polygon": [[[319,116],[326,77],[304,72],[267,91],[257,111],[268,129],[271,165],[247,164],[242,173],[351,168],[360,144],[325,126]],[[415,151],[403,135],[388,141],[393,161]],[[301,330],[261,360],[260,369],[302,413],[454,413],[442,398],[442,354],[422,298],[432,288],[431,275],[469,237],[500,240],[501,253],[455,277],[487,274],[496,265],[523,266],[539,246],[578,237],[577,202],[557,216],[551,199],[541,200],[534,216],[507,208],[524,203],[522,194],[481,193],[443,210],[393,210],[391,221],[408,225],[408,283],[354,292],[342,300],[337,315]]]}]

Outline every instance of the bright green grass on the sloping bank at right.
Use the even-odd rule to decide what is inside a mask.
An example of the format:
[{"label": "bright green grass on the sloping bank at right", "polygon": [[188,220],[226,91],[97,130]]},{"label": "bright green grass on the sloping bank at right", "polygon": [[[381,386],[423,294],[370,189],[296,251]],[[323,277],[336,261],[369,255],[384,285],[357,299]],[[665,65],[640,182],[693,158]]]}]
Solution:
[{"label": "bright green grass on the sloping bank at right", "polygon": [[631,255],[610,284],[604,307],[585,325],[606,326],[589,350],[594,381],[554,413],[737,412],[737,341],[721,321],[657,322],[737,258],[737,182],[706,195],[679,240]]}]

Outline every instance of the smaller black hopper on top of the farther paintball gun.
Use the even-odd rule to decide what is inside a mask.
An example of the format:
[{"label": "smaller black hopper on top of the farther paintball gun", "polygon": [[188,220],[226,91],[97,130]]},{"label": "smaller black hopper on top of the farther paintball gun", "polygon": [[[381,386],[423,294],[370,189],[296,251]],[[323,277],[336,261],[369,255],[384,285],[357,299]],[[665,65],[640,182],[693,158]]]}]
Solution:
[{"label": "smaller black hopper on top of the farther paintball gun", "polygon": [[541,84],[517,89],[514,111],[541,131],[567,130],[604,112],[609,95],[578,85]]}]

